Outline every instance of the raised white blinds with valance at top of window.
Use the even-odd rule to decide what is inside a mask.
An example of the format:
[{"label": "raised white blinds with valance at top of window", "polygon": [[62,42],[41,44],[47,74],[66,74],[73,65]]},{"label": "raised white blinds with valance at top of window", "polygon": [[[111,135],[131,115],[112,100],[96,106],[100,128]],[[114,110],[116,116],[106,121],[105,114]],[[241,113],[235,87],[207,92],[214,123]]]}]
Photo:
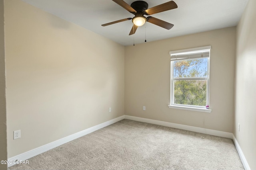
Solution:
[{"label": "raised white blinds with valance at top of window", "polygon": [[170,51],[171,61],[210,57],[211,46]]}]

